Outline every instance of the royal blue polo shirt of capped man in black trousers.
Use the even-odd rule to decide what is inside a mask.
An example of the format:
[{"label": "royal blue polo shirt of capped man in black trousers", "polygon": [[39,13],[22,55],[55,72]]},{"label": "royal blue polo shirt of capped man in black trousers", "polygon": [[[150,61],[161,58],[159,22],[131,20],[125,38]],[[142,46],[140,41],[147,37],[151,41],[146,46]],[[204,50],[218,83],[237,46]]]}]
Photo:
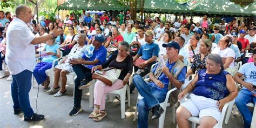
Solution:
[{"label": "royal blue polo shirt of capped man in black trousers", "polygon": [[107,53],[107,50],[104,46],[100,46],[99,49],[95,49],[93,51],[93,56],[91,58],[87,58],[85,56],[85,52],[84,52],[83,57],[82,57],[84,60],[93,61],[95,59],[98,59],[99,62],[96,63],[95,65],[85,65],[85,64],[83,64],[83,65],[88,69],[92,69],[93,66],[104,64],[106,62],[106,53]]}]

